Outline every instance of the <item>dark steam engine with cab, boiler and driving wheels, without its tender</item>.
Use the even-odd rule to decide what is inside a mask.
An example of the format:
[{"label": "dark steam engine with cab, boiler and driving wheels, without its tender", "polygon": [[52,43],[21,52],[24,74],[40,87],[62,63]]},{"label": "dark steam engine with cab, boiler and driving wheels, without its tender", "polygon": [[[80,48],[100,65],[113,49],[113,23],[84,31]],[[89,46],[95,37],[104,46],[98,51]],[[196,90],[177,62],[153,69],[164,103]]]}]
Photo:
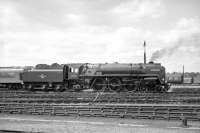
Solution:
[{"label": "dark steam engine with cab, boiler and driving wheels, without its tender", "polygon": [[[64,80],[74,81],[69,88],[80,87],[111,91],[165,91],[165,68],[148,64],[84,64],[79,70],[64,66]],[[75,82],[77,81],[77,82]],[[70,82],[72,83],[72,82]]]}]

